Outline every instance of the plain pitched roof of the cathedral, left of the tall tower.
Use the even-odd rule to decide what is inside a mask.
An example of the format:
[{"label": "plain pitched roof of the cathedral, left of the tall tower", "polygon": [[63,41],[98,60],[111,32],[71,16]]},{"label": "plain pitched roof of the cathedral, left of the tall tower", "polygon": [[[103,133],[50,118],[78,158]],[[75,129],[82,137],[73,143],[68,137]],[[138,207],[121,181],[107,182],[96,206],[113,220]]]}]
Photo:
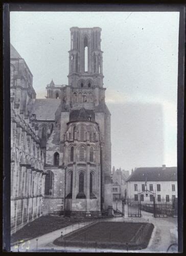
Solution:
[{"label": "plain pitched roof of the cathedral, left of the tall tower", "polygon": [[37,120],[55,120],[55,113],[60,105],[59,99],[30,99],[28,111],[36,114]]}]

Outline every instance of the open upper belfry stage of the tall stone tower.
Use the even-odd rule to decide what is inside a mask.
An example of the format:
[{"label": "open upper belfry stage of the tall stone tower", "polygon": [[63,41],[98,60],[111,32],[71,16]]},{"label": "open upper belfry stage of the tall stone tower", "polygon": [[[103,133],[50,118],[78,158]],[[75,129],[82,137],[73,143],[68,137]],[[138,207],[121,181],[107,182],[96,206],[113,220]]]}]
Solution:
[{"label": "open upper belfry stage of the tall stone tower", "polygon": [[[101,28],[71,30],[68,85],[73,87],[103,87]],[[89,80],[88,80],[89,79]]]}]

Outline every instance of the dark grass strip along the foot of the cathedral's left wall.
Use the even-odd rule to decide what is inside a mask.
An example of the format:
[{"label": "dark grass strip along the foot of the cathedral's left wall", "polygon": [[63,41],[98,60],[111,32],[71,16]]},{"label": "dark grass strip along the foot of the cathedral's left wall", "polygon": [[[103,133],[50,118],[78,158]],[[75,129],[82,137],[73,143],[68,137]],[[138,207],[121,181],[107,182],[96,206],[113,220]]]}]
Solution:
[{"label": "dark grass strip along the foot of the cathedral's left wall", "polygon": [[[86,221],[86,220],[85,220]],[[30,223],[23,228],[19,229],[16,233],[11,236],[11,243],[33,239],[43,234],[55,231],[57,229],[72,225],[74,223],[84,222],[84,219],[78,218],[67,218],[63,216],[42,216]]]}]

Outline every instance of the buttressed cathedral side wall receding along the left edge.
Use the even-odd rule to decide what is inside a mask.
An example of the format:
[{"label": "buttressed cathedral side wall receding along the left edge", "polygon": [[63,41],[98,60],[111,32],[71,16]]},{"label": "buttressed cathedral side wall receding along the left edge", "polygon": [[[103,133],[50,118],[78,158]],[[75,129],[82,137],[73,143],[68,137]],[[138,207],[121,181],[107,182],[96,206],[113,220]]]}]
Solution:
[{"label": "buttressed cathedral side wall receding along the left edge", "polygon": [[38,123],[28,115],[28,102],[35,99],[32,73],[25,60],[10,46],[11,104],[11,232],[42,215],[44,155]]}]

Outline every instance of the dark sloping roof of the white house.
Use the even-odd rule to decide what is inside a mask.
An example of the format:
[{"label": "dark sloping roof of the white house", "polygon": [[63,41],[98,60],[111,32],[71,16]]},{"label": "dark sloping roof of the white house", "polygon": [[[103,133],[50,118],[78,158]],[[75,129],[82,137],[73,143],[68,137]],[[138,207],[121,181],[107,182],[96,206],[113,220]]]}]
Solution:
[{"label": "dark sloping roof of the white house", "polygon": [[177,167],[136,168],[126,181],[177,181]]}]

